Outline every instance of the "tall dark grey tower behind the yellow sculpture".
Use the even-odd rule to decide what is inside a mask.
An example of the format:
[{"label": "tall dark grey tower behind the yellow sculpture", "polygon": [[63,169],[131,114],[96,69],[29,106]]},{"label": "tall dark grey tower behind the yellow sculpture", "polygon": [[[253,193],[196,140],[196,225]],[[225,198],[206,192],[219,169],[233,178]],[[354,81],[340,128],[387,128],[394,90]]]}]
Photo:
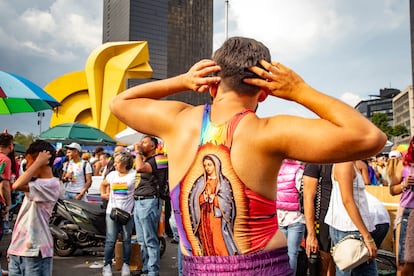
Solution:
[{"label": "tall dark grey tower behind the yellow sculpture", "polygon": [[[148,41],[152,79],[186,72],[213,49],[213,0],[104,0],[103,42]],[[193,105],[209,102],[208,93],[183,92],[168,99]]]}]

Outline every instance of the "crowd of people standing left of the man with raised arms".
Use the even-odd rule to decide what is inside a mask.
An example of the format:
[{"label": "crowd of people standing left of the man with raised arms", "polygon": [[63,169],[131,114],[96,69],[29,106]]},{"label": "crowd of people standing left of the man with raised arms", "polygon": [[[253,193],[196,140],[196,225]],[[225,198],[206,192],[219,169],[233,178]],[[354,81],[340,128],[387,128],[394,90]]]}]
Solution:
[{"label": "crowd of people standing left of the man with raised arms", "polygon": [[[32,143],[24,156],[15,157],[13,150],[13,136],[0,134],[3,220],[11,206],[12,192],[25,195],[14,223],[18,230],[13,232],[7,251],[10,275],[51,275],[53,239],[48,223],[52,209],[59,197],[88,201],[92,176],[104,179],[100,186],[102,206],[107,213],[103,274],[112,275],[115,242],[121,232],[122,275],[130,275],[133,228],[141,247],[143,271],[152,269],[159,273],[158,221],[162,208],[159,189],[165,187],[168,167],[165,155],[159,152],[158,139],[145,136],[138,141],[136,156],[123,146],[116,146],[110,156],[101,147],[89,154],[75,142],[56,150],[41,140]],[[112,217],[111,211],[116,208],[129,214],[127,223]],[[172,232],[167,234],[173,237]]]}]

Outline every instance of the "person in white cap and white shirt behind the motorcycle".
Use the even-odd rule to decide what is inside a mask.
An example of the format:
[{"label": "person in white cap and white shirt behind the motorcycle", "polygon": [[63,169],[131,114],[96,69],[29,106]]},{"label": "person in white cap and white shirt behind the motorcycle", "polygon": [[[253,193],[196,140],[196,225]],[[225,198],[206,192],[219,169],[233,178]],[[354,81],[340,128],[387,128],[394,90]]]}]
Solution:
[{"label": "person in white cap and white shirt behind the motorcycle", "polygon": [[65,198],[86,201],[86,193],[92,185],[92,166],[81,158],[82,148],[78,143],[71,143],[65,148],[69,159],[63,173],[63,181],[67,183]]}]

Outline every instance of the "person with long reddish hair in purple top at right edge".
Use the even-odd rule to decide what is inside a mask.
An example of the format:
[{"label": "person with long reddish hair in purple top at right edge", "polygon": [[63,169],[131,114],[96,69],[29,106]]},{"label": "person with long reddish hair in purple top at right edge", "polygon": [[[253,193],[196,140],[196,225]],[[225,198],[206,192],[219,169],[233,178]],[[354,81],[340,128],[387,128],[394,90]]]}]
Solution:
[{"label": "person with long reddish hair in purple top at right edge", "polygon": [[[391,173],[390,193],[400,195],[395,220],[397,275],[414,273],[414,137],[411,138],[402,162]],[[392,159],[390,159],[391,161]]]}]

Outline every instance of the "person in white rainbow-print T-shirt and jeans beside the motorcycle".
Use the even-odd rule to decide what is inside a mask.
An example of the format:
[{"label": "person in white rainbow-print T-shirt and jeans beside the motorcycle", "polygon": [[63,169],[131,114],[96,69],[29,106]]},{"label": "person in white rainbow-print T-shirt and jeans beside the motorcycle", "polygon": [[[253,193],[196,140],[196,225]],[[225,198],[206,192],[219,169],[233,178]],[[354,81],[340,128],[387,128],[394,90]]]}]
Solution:
[{"label": "person in white rainbow-print T-shirt and jeans beside the motorcycle", "polygon": [[[114,257],[115,242],[118,232],[122,236],[122,275],[130,275],[129,258],[131,255],[131,234],[134,226],[134,189],[136,171],[132,169],[133,157],[128,152],[120,152],[115,155],[115,171],[110,172],[101,184],[101,197],[108,200],[106,208],[106,240],[105,240],[105,264],[103,275],[112,275],[112,258]],[[109,189],[108,189],[109,188]],[[112,208],[119,208],[130,214],[128,222],[123,225],[114,221],[110,214]]]}]

